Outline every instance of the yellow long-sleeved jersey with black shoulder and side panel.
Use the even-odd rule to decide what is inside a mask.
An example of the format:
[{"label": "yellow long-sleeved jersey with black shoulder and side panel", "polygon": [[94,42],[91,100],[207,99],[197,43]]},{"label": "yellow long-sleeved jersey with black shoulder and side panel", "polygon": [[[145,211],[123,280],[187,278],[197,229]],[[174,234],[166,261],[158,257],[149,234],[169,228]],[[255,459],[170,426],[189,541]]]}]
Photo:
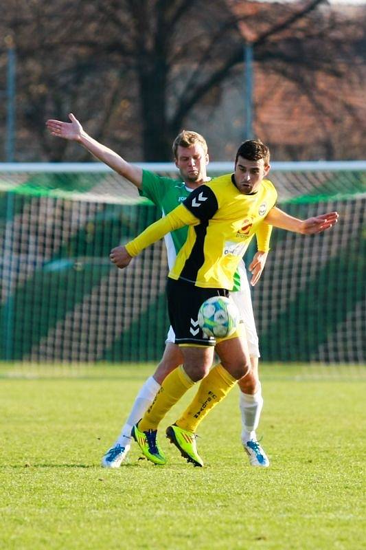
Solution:
[{"label": "yellow long-sleeved jersey with black shoulder and side panel", "polygon": [[197,287],[233,289],[238,263],[277,200],[268,179],[252,195],[243,195],[234,181],[227,174],[199,186],[165,218],[130,241],[127,252],[136,256],[168,230],[190,225],[169,277]]}]

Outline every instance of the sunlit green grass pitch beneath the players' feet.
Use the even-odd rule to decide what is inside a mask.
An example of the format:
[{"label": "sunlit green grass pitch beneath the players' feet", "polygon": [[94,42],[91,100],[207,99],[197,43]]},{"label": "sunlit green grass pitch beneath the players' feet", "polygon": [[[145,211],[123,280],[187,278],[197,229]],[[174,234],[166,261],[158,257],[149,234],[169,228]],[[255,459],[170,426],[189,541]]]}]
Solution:
[{"label": "sunlit green grass pitch beneath the players' feet", "polygon": [[[0,548],[365,549],[365,369],[263,366],[268,469],[240,445],[236,388],[200,428],[205,467],[100,458],[153,366],[0,367]],[[174,421],[185,396],[163,422]]]}]

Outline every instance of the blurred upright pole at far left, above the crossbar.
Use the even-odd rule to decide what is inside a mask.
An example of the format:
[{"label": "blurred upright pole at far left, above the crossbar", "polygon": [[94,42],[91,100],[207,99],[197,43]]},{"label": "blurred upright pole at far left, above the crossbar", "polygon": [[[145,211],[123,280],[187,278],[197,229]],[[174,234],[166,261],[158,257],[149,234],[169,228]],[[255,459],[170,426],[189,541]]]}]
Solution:
[{"label": "blurred upright pole at far left, above the crossbar", "polygon": [[15,145],[15,72],[16,54],[12,36],[7,36],[5,43],[8,46],[8,71],[6,78],[6,139],[5,159],[6,162],[14,161]]}]

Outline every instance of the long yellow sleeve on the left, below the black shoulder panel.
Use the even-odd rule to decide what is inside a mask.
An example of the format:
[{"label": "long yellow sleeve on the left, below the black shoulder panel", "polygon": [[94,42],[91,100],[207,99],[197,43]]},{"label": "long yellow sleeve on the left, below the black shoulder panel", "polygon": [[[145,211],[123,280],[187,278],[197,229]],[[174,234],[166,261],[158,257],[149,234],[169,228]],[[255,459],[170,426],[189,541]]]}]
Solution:
[{"label": "long yellow sleeve on the left, below the black shoulder panel", "polygon": [[167,216],[149,225],[133,241],[127,243],[126,250],[130,256],[137,256],[141,250],[159,241],[165,234],[183,228],[183,225],[194,225],[196,223],[198,223],[197,218],[183,204],[180,204]]}]

